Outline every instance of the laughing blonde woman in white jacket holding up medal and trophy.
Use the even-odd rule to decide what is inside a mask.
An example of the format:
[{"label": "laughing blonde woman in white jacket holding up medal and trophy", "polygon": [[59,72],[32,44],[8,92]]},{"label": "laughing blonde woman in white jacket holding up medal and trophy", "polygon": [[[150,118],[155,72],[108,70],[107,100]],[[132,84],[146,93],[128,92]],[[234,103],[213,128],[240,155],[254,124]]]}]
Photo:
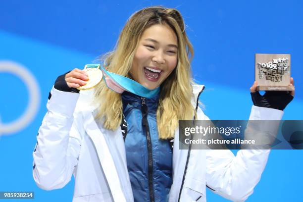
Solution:
[{"label": "laughing blonde woman in white jacket holding up medal and trophy", "polygon": [[[76,89],[88,80],[82,70],[56,80],[33,153],[37,185],[59,189],[74,175],[74,202],[202,202],[206,186],[227,199],[246,200],[268,150],[234,156],[178,149],[178,120],[208,119],[198,106],[204,87],[192,82],[192,56],[178,10],[154,6],[133,14],[115,50],[103,58],[104,72],[123,82],[107,77],[90,95]],[[113,83],[126,91],[112,91]],[[255,89],[256,83],[251,119],[280,119],[294,95],[281,94],[283,102],[275,103]]]}]

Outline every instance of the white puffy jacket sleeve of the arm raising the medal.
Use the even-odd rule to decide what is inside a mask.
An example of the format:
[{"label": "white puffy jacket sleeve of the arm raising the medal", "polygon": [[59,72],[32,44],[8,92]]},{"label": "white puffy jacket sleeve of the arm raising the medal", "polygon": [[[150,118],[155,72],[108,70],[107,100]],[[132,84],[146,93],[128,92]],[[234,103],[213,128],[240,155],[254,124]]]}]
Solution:
[{"label": "white puffy jacket sleeve of the arm raising the medal", "polygon": [[41,189],[64,187],[77,166],[81,138],[73,112],[79,94],[52,88],[33,152],[33,177]]}]

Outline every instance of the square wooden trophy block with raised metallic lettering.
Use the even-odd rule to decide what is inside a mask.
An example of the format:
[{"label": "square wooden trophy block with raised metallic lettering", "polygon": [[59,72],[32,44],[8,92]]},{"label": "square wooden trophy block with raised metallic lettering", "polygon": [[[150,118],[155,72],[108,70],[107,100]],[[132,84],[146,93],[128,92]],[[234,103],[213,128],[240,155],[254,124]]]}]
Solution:
[{"label": "square wooden trophy block with raised metallic lettering", "polygon": [[294,91],[290,54],[255,54],[257,91]]}]

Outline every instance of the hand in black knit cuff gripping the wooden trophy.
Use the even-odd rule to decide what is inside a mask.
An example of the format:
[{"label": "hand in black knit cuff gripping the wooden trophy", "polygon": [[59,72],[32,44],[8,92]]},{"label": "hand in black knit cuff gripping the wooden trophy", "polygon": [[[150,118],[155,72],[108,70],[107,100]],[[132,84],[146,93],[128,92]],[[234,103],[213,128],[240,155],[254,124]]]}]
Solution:
[{"label": "hand in black knit cuff gripping the wooden trophy", "polygon": [[[289,86],[294,86],[294,78],[291,78],[291,83]],[[284,110],[287,104],[294,99],[295,91],[266,91],[263,96],[256,91],[257,82],[253,83],[251,87],[251,96],[253,100],[253,105],[275,108],[279,110]]]}]

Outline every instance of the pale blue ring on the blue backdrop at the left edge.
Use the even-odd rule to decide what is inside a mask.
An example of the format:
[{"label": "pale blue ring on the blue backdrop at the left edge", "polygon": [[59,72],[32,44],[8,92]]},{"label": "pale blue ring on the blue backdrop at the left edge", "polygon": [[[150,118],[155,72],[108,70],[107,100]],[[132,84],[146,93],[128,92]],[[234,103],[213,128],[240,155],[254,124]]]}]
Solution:
[{"label": "pale blue ring on the blue backdrop at the left edge", "polygon": [[40,89],[34,75],[26,67],[13,61],[0,61],[0,73],[8,72],[20,78],[29,92],[29,102],[24,113],[10,123],[1,123],[0,117],[0,136],[10,135],[21,131],[34,119],[40,107]]}]

